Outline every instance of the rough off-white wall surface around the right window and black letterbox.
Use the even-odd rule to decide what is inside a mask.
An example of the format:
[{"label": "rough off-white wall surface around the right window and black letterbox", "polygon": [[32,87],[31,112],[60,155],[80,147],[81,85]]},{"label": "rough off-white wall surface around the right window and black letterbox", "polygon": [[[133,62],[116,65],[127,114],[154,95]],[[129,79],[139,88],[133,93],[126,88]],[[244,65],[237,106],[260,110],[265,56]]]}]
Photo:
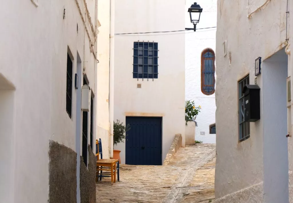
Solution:
[{"label": "rough off-white wall surface around the right window and black letterbox", "polygon": [[[263,114],[265,111],[270,111],[263,105],[264,99],[267,99],[263,95],[263,89],[269,88],[263,83],[265,67],[262,66],[263,74],[257,77],[260,86],[261,119],[250,123],[250,138],[240,143],[238,141],[237,93],[237,81],[247,74],[250,74],[250,84],[254,84],[254,64],[257,57],[262,57],[264,61],[285,47],[287,1],[269,1],[267,6],[248,19],[248,13],[263,3],[262,0],[236,2],[218,0],[217,4],[216,65],[220,68],[217,68],[216,91],[216,202],[265,201],[263,193],[266,190],[266,181],[269,180],[264,175],[264,167],[267,167],[264,165],[264,160],[268,156],[265,154],[267,153],[265,149],[268,149],[267,147],[271,144],[268,137],[272,136],[272,132],[268,137],[264,133],[267,130],[264,121],[272,116],[272,114],[270,116]],[[292,6],[289,9],[291,12]],[[290,18],[288,20],[290,22]],[[289,30],[290,27],[289,23]],[[226,57],[223,56],[222,51],[224,40],[227,40]],[[275,142],[277,146],[281,145],[281,142],[285,144],[283,139],[275,139]],[[278,164],[272,157],[271,164],[275,163],[275,167],[284,169],[285,160],[282,160],[281,164]],[[279,173],[278,171],[275,175]],[[280,185],[280,182],[271,179],[270,185]],[[277,193],[277,197],[281,197],[282,194]],[[265,202],[271,201],[266,199]]]}]

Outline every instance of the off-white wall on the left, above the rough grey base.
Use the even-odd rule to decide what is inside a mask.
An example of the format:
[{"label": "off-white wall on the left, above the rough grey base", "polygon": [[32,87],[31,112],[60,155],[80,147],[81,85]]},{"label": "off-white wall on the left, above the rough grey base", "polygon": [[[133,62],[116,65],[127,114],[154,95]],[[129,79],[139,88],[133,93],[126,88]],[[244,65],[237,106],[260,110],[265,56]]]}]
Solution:
[{"label": "off-white wall on the left, above the rough grey base", "polygon": [[[83,1],[78,0],[78,3],[82,13],[85,13]],[[90,12],[94,25],[95,13],[92,13],[92,9]],[[11,13],[15,15],[12,16]],[[11,185],[5,184],[5,187],[10,186],[10,189],[6,188],[10,191],[5,190],[7,196],[4,196],[4,199],[5,202],[47,202],[49,140],[58,141],[73,150],[78,146],[74,79],[72,117],[69,118],[66,112],[67,51],[70,50],[73,59],[73,76],[76,73],[79,53],[82,61],[81,71],[86,73],[89,86],[95,95],[97,61],[90,52],[89,38],[84,31],[84,23],[75,1],[52,3],[39,0],[38,7],[30,0],[5,1],[0,6],[0,17],[5,19],[2,21],[5,32],[1,32],[0,40],[0,53],[3,58],[0,62],[0,74],[15,87],[13,102],[6,109],[11,109],[11,116],[5,116],[13,131],[8,129],[4,133],[6,137],[11,136],[10,149],[4,148],[7,149],[6,156],[11,156],[11,166],[8,166],[11,169]],[[92,37],[88,21],[87,27]],[[93,41],[93,38],[91,40]],[[79,88],[81,84],[82,78],[79,78]],[[0,86],[2,85],[0,82]],[[4,94],[0,94],[2,98]],[[11,97],[6,98],[7,100],[1,99],[0,102],[0,121],[4,116],[3,104],[12,101]],[[88,122],[90,126],[90,120]],[[1,132],[0,137],[4,137],[4,134]],[[9,141],[3,142],[1,138],[0,148],[8,143]],[[79,143],[81,144],[81,136]],[[79,149],[78,159],[81,147]],[[77,163],[79,164],[79,161]],[[79,166],[77,169],[79,170]],[[0,174],[2,180],[3,174]],[[77,177],[79,178],[79,174]],[[3,182],[0,182],[0,188],[3,187],[2,184]],[[79,182],[77,185],[79,190]]]}]

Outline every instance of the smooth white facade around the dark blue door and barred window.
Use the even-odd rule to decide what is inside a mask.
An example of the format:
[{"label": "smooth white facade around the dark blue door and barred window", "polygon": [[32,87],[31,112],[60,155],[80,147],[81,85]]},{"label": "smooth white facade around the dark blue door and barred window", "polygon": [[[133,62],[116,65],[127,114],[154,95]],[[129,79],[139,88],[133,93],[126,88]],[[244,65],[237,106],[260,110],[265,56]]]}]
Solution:
[{"label": "smooth white facade around the dark blue door and barred window", "polygon": [[[184,0],[117,0],[115,8],[115,33],[184,30]],[[175,134],[182,134],[185,143],[185,35],[170,34],[115,35],[114,120],[162,117],[162,163]],[[133,46],[138,41],[158,43],[159,74],[154,81],[133,78]],[[114,149],[121,150],[121,163],[125,163],[125,141]]]}]

